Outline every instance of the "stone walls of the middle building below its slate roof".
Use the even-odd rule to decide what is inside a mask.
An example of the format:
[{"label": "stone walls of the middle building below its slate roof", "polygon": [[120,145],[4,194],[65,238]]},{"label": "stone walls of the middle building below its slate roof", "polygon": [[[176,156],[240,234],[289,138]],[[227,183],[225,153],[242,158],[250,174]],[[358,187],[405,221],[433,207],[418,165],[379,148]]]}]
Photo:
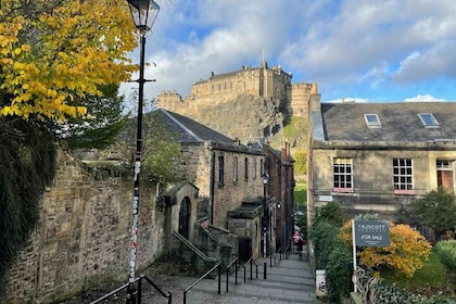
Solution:
[{"label": "stone walls of the middle building below its slate roof", "polygon": [[[224,157],[223,185],[218,182],[219,156]],[[233,176],[235,159],[238,162],[237,179]],[[245,176],[245,159],[248,159],[248,176]],[[208,202],[210,212],[213,204],[213,224],[226,229],[228,211],[239,207],[245,199],[263,195],[259,164],[264,160],[261,150],[246,149],[243,145],[217,147],[212,142],[189,143],[181,145],[180,168],[182,178],[198,187],[198,201]],[[211,214],[206,216],[211,217]]]}]

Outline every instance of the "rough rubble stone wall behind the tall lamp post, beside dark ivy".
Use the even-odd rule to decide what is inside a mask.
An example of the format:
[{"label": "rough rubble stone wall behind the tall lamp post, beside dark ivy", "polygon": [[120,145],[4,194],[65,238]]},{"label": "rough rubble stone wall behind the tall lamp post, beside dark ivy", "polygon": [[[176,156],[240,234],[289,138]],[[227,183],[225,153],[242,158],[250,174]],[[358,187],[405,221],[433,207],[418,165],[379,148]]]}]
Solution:
[{"label": "rough rubble stone wall behind the tall lamp post, beside dark ivy", "polygon": [[[87,169],[64,151],[56,163],[39,226],[8,276],[10,303],[49,303],[93,280],[127,280],[132,175],[112,164]],[[155,187],[142,182],[140,189],[138,269],[161,254],[164,227]]]}]

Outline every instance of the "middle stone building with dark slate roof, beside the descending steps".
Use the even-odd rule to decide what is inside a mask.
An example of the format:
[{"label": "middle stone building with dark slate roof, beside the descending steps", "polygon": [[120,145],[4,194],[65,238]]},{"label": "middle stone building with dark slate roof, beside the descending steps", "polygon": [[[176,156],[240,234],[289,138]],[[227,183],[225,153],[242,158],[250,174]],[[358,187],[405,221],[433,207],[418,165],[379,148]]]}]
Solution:
[{"label": "middle stone building with dark slate roof, beside the descending steps", "polygon": [[[188,200],[195,202],[187,211],[198,213],[194,215],[195,220],[183,226],[192,227],[198,223],[197,228],[189,229],[204,229],[193,233],[182,232],[185,229],[181,229],[180,233],[193,235],[190,239],[201,240],[204,238],[199,235],[204,235],[208,229],[212,233],[217,231],[218,236],[225,230],[241,240],[240,249],[249,249],[233,254],[256,258],[261,253],[264,211],[261,176],[267,169],[267,157],[262,148],[244,145],[239,140],[232,140],[177,113],[163,109],[156,112],[161,116],[159,119],[178,135],[181,145],[181,179],[199,189],[198,198]],[[165,195],[174,200],[169,192]],[[274,215],[275,202],[276,199],[268,192],[267,208]],[[270,244],[276,243],[275,233],[268,232],[268,238]],[[208,244],[197,241],[197,245],[204,252]]]}]

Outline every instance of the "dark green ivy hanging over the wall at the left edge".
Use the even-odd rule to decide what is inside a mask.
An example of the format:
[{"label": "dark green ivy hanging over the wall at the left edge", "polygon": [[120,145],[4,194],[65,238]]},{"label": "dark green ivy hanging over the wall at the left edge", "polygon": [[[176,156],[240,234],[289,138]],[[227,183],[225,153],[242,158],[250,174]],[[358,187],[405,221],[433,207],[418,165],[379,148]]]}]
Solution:
[{"label": "dark green ivy hanging over the wall at the left edge", "polygon": [[42,126],[0,117],[0,294],[37,226],[45,186],[54,175],[53,136]]}]

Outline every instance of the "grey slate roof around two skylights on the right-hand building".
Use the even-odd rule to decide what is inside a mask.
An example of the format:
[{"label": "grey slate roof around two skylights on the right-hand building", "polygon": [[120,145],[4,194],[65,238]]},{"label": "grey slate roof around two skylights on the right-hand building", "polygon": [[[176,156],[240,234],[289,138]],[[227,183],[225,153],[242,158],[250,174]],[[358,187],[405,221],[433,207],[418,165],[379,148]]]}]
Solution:
[{"label": "grey slate roof around two skylights on the right-hand building", "polygon": [[[418,114],[431,113],[438,127],[425,127]],[[368,127],[364,114],[377,114],[381,127]],[[325,140],[420,142],[456,139],[455,102],[321,103]]]}]

